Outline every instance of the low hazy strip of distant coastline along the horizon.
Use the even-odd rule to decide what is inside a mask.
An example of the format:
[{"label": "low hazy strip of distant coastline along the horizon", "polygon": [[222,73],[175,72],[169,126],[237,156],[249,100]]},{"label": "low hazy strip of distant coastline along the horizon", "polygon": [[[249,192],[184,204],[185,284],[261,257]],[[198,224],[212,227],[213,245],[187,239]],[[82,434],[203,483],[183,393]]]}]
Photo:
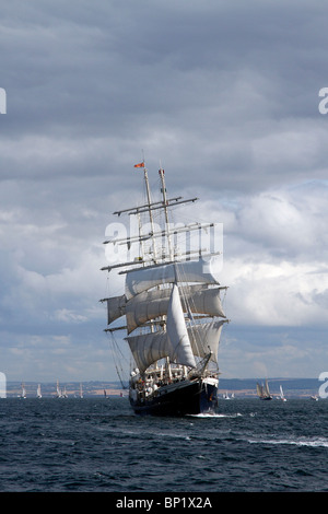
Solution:
[{"label": "low hazy strip of distant coastline along the horizon", "polygon": [[[234,393],[235,398],[256,398],[256,383],[261,383],[263,378],[220,378],[219,399],[223,394]],[[318,378],[268,378],[270,393],[279,395],[279,387],[282,385],[284,394],[290,398],[304,398],[317,395],[321,382]],[[56,381],[54,382],[24,382],[27,398],[36,397],[37,385],[42,386],[43,397],[56,397]],[[66,387],[68,398],[80,396],[81,382],[61,382]],[[22,382],[7,382],[7,397],[20,396]],[[118,397],[127,396],[128,390],[124,389],[120,382],[86,381],[82,382],[83,397]]]}]

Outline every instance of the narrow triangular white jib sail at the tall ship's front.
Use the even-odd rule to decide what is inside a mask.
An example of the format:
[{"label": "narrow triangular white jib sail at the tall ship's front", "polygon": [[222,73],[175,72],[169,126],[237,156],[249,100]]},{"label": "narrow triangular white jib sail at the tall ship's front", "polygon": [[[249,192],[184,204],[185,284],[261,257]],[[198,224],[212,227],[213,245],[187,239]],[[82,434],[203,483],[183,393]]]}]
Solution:
[{"label": "narrow triangular white jib sail at the tall ship's front", "polygon": [[177,284],[174,284],[167,308],[167,336],[173,352],[172,359],[178,364],[195,367],[196,361],[186,327]]}]

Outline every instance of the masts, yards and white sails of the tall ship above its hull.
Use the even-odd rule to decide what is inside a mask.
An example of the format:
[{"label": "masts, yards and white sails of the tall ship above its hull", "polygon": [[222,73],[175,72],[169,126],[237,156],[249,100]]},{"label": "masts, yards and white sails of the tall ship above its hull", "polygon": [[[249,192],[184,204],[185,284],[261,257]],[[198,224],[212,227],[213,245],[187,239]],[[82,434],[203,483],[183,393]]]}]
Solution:
[{"label": "masts, yards and white sails of the tall ship above its hull", "polygon": [[[129,261],[102,268],[108,272],[114,268],[126,276],[125,294],[103,299],[107,303],[106,331],[125,329],[125,338],[136,361],[132,375],[144,377],[150,369],[160,370],[172,378],[172,366],[179,376],[196,377],[218,374],[218,350],[222,326],[227,322],[221,304],[221,287],[214,269],[214,261],[207,249],[198,249],[198,260],[190,260],[191,250],[177,255],[174,237],[192,231],[210,230],[213,223],[191,223],[173,227],[169,224],[168,210],[181,203],[195,202],[198,198],[184,200],[181,197],[167,198],[165,174],[161,167],[162,200],[152,201],[148,170],[144,162],[134,167],[142,167],[144,175],[147,203],[115,214],[137,215],[138,235],[128,238],[112,238],[104,244],[139,244],[140,255]],[[165,229],[157,230],[153,213],[162,210]],[[142,230],[141,215],[148,213],[150,231]],[[161,237],[166,243],[164,250],[156,247]],[[150,243],[148,252],[144,244]],[[126,316],[126,325],[113,326],[114,322]],[[138,335],[136,331],[138,330]],[[165,362],[159,367],[159,361]],[[209,364],[214,371],[209,372]]]}]

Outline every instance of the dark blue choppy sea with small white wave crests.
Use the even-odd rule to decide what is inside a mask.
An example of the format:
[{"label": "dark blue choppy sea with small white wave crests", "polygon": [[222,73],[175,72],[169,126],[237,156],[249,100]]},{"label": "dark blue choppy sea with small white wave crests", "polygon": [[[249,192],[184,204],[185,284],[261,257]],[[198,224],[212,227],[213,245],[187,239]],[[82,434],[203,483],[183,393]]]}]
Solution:
[{"label": "dark blue choppy sea with small white wave crests", "polygon": [[1,492],[328,491],[328,400],[221,400],[140,418],[127,398],[0,400]]}]

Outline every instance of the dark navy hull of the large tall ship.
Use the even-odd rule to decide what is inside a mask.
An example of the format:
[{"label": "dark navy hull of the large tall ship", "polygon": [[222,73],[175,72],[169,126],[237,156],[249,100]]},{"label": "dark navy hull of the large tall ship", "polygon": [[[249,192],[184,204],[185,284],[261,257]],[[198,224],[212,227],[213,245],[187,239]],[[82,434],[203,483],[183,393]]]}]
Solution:
[{"label": "dark navy hull of the large tall ship", "polygon": [[130,404],[136,414],[187,416],[214,413],[218,407],[218,381],[185,379],[159,387],[149,397],[130,390]]}]

